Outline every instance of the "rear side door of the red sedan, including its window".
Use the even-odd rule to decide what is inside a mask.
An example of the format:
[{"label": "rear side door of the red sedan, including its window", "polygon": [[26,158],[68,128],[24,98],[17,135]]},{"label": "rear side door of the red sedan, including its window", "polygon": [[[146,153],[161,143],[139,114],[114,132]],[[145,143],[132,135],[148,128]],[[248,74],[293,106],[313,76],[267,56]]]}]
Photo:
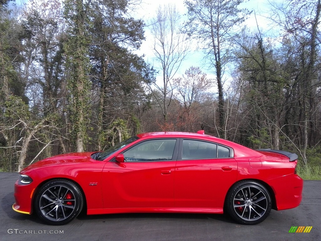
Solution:
[{"label": "rear side door of the red sedan, including its window", "polygon": [[175,207],[222,208],[237,179],[233,153],[218,143],[181,138],[175,167]]}]

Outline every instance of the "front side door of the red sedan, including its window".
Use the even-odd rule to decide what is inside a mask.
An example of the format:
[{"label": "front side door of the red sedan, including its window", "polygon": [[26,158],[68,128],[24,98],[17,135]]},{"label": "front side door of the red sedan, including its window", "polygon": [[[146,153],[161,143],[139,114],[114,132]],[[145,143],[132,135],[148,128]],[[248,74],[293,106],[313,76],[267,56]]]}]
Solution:
[{"label": "front side door of the red sedan, including its window", "polygon": [[106,163],[102,174],[104,207],[174,207],[177,150],[176,138],[150,139],[126,149],[124,163]]}]

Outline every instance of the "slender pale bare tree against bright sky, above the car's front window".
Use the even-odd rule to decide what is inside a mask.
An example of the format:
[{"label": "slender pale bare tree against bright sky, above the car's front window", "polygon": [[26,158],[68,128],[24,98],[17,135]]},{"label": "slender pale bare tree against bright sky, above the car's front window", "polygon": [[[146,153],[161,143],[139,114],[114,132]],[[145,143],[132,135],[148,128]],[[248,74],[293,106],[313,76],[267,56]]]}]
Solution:
[{"label": "slender pale bare tree against bright sky, above the car's front window", "polygon": [[[168,107],[173,96],[171,80],[178,71],[189,50],[185,35],[179,32],[180,14],[174,5],[159,6],[152,20],[151,32],[154,37],[153,51],[162,73],[163,85],[152,83],[150,89],[157,100],[167,123]],[[161,96],[158,96],[158,94]]]}]

